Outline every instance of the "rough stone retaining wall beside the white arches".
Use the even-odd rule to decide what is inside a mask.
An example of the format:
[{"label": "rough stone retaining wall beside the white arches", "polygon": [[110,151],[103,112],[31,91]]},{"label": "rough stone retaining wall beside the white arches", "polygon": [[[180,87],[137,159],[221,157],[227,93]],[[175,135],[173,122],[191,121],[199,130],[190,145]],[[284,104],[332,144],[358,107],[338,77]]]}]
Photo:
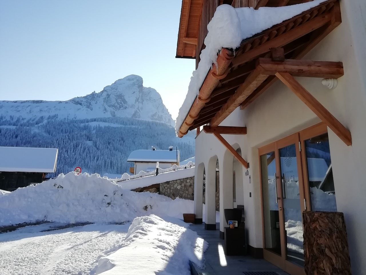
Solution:
[{"label": "rough stone retaining wall beside the white arches", "polygon": [[159,193],[169,198],[194,199],[194,177],[160,183]]}]

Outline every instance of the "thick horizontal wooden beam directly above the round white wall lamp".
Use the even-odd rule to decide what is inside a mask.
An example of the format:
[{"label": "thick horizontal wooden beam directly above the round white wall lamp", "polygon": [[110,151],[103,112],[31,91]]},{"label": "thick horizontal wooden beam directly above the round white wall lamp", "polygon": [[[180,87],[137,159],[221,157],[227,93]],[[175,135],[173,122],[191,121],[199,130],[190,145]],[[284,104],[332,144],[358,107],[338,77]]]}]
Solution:
[{"label": "thick horizontal wooden beam directly above the round white wall lamp", "polygon": [[274,76],[278,73],[289,73],[292,76],[339,78],[343,76],[343,63],[317,60],[285,59],[283,62],[270,58],[258,58],[257,66],[263,68],[263,74]]}]

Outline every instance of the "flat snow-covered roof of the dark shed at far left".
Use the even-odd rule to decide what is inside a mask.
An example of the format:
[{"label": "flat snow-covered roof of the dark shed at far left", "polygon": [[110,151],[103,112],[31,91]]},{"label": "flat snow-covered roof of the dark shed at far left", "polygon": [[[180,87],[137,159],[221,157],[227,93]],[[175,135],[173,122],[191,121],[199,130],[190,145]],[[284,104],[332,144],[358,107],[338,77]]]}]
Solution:
[{"label": "flat snow-covered roof of the dark shed at far left", "polygon": [[57,154],[56,148],[0,147],[0,171],[53,173]]}]

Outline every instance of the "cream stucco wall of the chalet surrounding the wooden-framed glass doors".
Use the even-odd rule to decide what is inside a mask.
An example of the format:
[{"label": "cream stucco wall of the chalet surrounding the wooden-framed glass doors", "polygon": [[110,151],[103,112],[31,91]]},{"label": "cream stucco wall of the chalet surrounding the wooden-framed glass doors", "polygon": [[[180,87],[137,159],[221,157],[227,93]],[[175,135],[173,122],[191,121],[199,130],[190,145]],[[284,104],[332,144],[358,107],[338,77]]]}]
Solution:
[{"label": "cream stucco wall of the chalet surrounding the wooden-framed glass doors", "polygon": [[[351,131],[352,146],[346,146],[328,129],[330,153],[337,209],[346,219],[352,272],[366,274],[366,1],[341,1],[341,12],[340,26],[304,58],[342,61],[344,76],[338,79],[337,88],[325,88],[319,78],[296,79]],[[245,110],[236,109],[221,123],[247,126],[246,136],[223,136],[238,145],[250,163],[250,177],[245,176],[243,168],[242,185],[249,245],[263,247],[258,148],[318,122],[319,118],[277,81]],[[201,132],[196,138],[196,167],[200,163],[207,167],[213,155],[220,162],[225,151],[216,137]],[[236,186],[239,184],[236,180]]]}]

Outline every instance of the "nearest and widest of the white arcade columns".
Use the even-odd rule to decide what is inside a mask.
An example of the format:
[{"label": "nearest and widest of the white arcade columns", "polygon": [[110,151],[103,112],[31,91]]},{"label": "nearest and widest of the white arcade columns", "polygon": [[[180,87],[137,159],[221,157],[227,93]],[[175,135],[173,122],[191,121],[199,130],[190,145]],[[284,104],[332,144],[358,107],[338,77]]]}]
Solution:
[{"label": "nearest and widest of the white arcade columns", "polygon": [[219,159],[220,170],[220,231],[224,232],[224,227],[228,224],[225,220],[224,209],[233,208],[232,196],[232,174],[233,174],[233,157],[225,152],[224,157]]}]

